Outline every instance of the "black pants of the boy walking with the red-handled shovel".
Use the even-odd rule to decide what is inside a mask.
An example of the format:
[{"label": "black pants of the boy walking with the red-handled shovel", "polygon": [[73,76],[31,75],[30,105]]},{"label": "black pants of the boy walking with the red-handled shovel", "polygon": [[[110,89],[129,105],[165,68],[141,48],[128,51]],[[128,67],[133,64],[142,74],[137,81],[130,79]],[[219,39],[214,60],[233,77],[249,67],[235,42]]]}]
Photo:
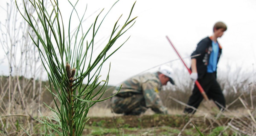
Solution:
[{"label": "black pants of the boy walking with the red-handled shovel", "polygon": [[[204,89],[205,93],[207,94],[209,99],[212,99],[214,102],[218,102],[223,107],[225,107],[225,98],[221,91],[221,87],[218,84],[215,74],[213,73],[207,73],[204,75],[202,79],[198,79],[198,82]],[[201,101],[203,100],[203,96],[201,92],[199,91],[198,87],[195,85],[194,89],[192,91],[192,95],[189,97],[188,105],[193,106],[195,108],[198,108]],[[215,102],[215,103],[216,103]],[[221,109],[221,106],[216,104],[219,109]],[[185,108],[184,113],[195,113],[195,110],[192,108]]]}]

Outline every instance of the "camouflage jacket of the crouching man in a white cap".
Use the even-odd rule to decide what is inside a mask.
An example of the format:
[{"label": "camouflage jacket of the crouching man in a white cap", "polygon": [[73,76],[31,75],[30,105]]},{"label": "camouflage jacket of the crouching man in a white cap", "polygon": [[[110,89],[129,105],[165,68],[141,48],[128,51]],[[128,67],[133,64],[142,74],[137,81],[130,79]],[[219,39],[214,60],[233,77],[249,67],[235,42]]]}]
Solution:
[{"label": "camouflage jacket of the crouching man in a white cap", "polygon": [[[167,113],[167,108],[159,96],[162,84],[157,73],[147,73],[132,77],[122,83],[122,88],[117,96],[128,97],[133,94],[143,94],[147,108],[157,113]],[[119,87],[116,87],[118,90]]]}]

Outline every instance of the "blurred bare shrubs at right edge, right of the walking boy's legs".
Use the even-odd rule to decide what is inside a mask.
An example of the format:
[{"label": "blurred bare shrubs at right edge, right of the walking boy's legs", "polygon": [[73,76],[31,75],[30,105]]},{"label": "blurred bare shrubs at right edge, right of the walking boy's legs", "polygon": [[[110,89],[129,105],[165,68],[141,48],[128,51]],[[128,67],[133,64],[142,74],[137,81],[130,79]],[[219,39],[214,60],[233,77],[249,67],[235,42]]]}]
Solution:
[{"label": "blurred bare shrubs at right edge, right of the walking boy's legs", "polygon": [[218,82],[224,92],[227,105],[233,103],[229,108],[236,109],[244,107],[241,102],[236,100],[241,96],[251,107],[256,104],[251,97],[255,98],[256,93],[253,90],[253,74],[251,71],[242,71],[237,68],[236,71],[220,71]]}]

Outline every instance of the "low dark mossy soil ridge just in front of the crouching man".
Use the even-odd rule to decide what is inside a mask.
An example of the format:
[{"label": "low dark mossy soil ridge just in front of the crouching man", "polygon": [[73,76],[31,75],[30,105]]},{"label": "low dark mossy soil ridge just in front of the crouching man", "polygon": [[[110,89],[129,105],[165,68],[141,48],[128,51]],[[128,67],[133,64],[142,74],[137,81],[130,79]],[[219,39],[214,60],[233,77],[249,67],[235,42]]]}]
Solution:
[{"label": "low dark mossy soil ridge just in front of the crouching man", "polygon": [[[112,128],[114,127],[183,127],[191,117],[183,115],[144,115],[144,116],[117,116],[117,117],[92,117],[87,122],[89,126],[99,126]],[[220,118],[216,122],[212,120],[204,120],[203,117],[193,117],[193,122],[198,125],[226,125],[230,119]]]}]

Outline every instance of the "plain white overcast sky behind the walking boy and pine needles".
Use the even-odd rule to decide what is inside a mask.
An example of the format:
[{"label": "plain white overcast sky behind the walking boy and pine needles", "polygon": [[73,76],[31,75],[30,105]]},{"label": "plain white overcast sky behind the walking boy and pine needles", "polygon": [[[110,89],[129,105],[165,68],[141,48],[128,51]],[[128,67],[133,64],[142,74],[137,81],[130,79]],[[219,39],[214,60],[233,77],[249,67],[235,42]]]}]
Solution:
[{"label": "plain white overcast sky behind the walking boy and pine needles", "polygon": [[[0,0],[2,7],[5,7],[5,1]],[[66,0],[59,0],[60,3],[63,1]],[[82,14],[88,3],[88,17],[98,9],[105,8],[105,11],[108,11],[115,1],[80,0],[77,9],[81,9]],[[120,0],[116,4],[107,17],[106,26],[102,28],[102,31],[108,33],[103,33],[102,37],[108,37],[113,24],[122,13],[122,18],[126,19],[134,2],[135,0]],[[61,3],[61,6],[65,9],[63,13],[68,14],[67,5]],[[0,9],[0,13],[3,20],[5,17],[3,9]],[[113,54],[102,71],[102,76],[105,77],[108,63],[111,62],[109,82],[111,85],[117,85],[149,68],[177,59],[177,55],[166,40],[166,35],[172,40],[181,56],[189,56],[202,38],[212,34],[212,26],[220,20],[227,24],[228,29],[219,39],[223,54],[218,70],[235,71],[237,68],[242,68],[244,71],[255,72],[256,67],[253,66],[256,63],[255,0],[137,0],[132,17],[136,16],[138,18],[135,25],[120,40],[124,41],[131,35],[130,39]],[[95,17],[91,18],[94,19]],[[87,23],[84,25],[86,28]],[[1,54],[0,59],[3,58],[3,53]],[[185,60],[189,65],[190,60]],[[227,64],[232,65],[232,69],[227,69]],[[184,68],[180,61],[168,65],[172,68]],[[1,74],[6,68],[5,63],[0,63]]]}]

